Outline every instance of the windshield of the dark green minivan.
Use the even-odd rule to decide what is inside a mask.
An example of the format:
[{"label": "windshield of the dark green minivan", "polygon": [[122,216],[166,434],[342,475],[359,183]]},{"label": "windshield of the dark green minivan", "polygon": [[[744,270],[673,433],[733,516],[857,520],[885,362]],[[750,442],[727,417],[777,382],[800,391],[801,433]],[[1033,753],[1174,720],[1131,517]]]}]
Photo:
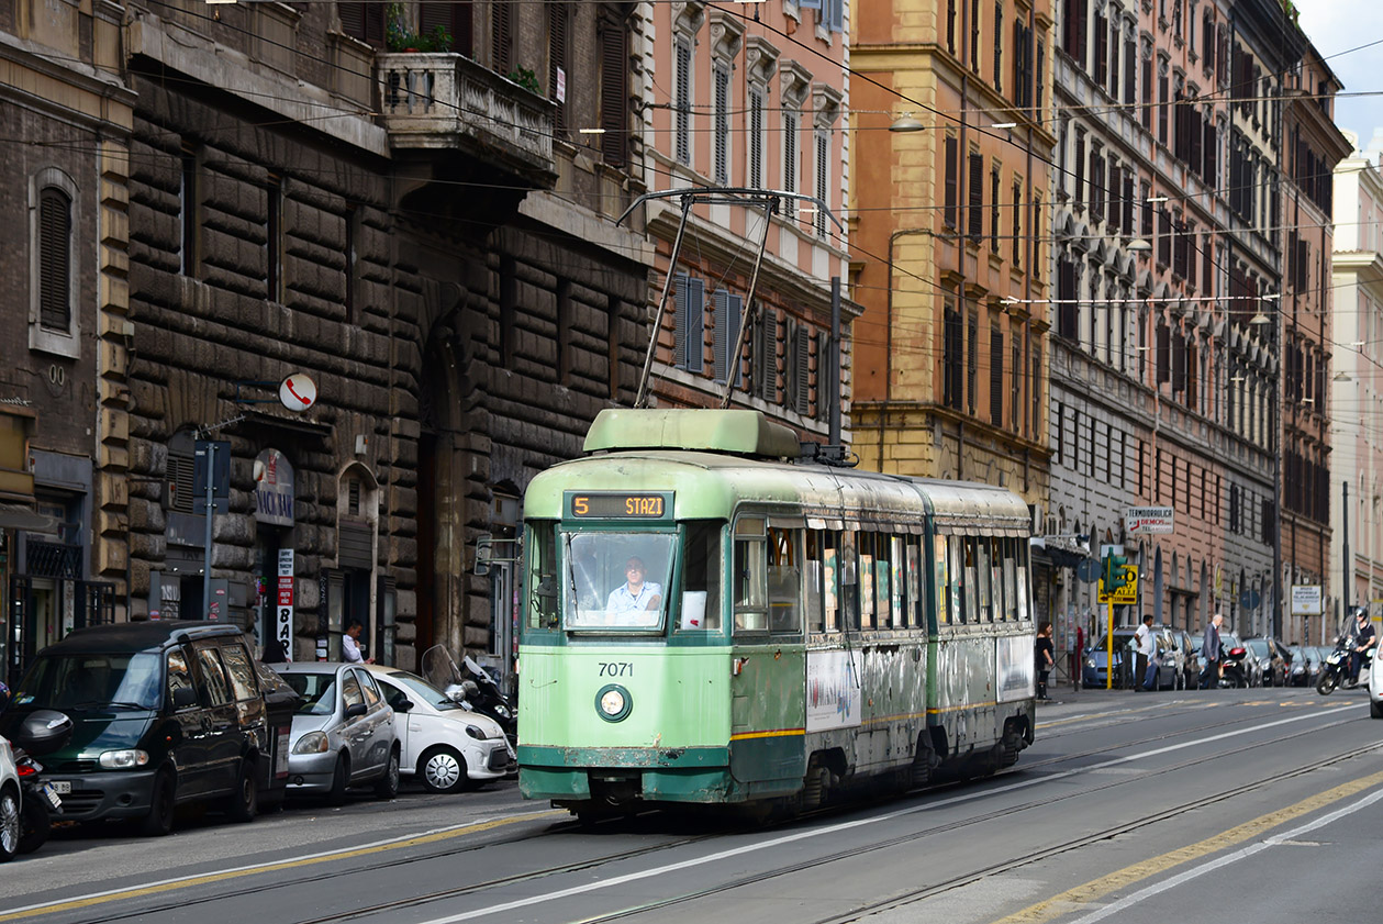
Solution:
[{"label": "windshield of the dark green minivan", "polygon": [[14,704],[44,710],[156,710],[162,658],[138,654],[40,657],[15,690]]}]

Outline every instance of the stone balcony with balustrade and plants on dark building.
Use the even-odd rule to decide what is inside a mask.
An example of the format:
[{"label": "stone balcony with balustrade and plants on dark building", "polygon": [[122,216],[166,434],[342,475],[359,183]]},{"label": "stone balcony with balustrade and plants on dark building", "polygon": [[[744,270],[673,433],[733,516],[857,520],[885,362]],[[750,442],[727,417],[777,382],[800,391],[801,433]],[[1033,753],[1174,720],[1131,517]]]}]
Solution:
[{"label": "stone balcony with balustrade and plants on dark building", "polygon": [[462,151],[539,188],[556,181],[556,105],[454,53],[375,58],[394,151]]}]

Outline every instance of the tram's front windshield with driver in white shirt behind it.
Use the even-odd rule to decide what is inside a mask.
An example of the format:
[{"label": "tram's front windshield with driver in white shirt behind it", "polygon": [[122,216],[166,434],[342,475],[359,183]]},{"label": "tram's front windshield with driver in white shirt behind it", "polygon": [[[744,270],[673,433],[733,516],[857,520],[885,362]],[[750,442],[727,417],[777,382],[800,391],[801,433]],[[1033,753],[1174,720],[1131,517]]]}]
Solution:
[{"label": "tram's front windshield with driver in white shirt behind it", "polygon": [[563,591],[567,628],[660,628],[675,551],[671,534],[568,533]]}]

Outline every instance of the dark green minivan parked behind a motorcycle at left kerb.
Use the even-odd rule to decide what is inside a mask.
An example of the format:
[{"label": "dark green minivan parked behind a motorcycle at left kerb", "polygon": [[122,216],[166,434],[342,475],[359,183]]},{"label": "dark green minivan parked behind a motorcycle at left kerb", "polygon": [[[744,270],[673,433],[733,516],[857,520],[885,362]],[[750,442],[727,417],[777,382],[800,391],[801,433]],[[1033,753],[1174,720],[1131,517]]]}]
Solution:
[{"label": "dark green minivan parked behind a motorcycle at left kerb", "polygon": [[33,710],[72,718],[71,744],[43,758],[62,798],[55,820],[138,819],[156,835],[178,805],[212,802],[248,822],[263,788],[282,790],[288,761],[257,668],[245,635],[224,622],[76,629],[39,653],[0,734]]}]

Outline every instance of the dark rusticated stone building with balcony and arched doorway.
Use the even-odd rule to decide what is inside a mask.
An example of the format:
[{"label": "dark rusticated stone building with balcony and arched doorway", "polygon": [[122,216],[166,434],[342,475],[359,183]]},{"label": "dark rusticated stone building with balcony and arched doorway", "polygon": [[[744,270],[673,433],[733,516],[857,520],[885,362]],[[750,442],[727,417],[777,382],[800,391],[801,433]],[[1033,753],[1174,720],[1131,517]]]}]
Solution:
[{"label": "dark rusticated stone building with balcony and arched doorway", "polygon": [[[127,292],[129,314],[82,318],[90,409],[53,423],[82,422],[54,450],[112,486],[83,519],[115,618],[210,614],[271,653],[286,618],[299,658],[337,657],[360,620],[380,660],[444,643],[508,672],[523,490],[632,401],[647,342],[651,250],[610,221],[640,190],[629,4],[112,21],[129,154],[112,174],[93,129],[71,170],[82,304]],[[118,284],[98,278],[97,195],[119,205],[127,285],[123,241]],[[293,373],[317,391],[299,412],[279,403]],[[207,440],[230,456],[209,563]]]}]

